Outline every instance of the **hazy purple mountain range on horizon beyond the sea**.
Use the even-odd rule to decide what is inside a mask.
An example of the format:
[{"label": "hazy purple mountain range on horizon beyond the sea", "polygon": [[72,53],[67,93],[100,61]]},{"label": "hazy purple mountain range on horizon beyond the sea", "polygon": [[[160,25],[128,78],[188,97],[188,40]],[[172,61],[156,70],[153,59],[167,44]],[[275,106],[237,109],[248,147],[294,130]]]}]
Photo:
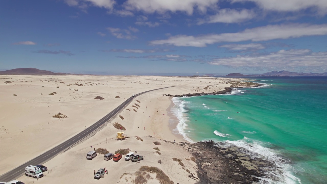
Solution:
[{"label": "hazy purple mountain range on horizon beyond the sea", "polygon": [[230,73],[226,75],[228,77],[240,77],[240,76],[327,76],[327,72],[324,73],[298,73],[298,72],[289,72],[289,71],[271,71],[263,74],[252,74],[252,75],[243,75],[240,73]]}]

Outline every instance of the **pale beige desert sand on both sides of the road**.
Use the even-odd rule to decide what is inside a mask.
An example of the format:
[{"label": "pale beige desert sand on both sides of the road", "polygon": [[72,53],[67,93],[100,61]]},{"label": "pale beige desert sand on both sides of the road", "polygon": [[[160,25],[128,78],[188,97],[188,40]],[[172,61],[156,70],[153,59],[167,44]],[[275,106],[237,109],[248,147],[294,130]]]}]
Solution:
[{"label": "pale beige desert sand on both sides of the road", "polygon": [[[196,165],[191,155],[180,149],[176,142],[186,140],[169,125],[171,97],[163,94],[208,93],[221,91],[225,87],[241,86],[226,83],[230,78],[211,77],[165,77],[165,76],[24,76],[1,75],[0,83],[0,175],[18,165],[55,147],[91,126],[133,94],[168,86],[136,97],[115,119],[92,137],[70,150],[49,160],[49,173],[36,180],[32,177],[18,178],[25,183],[133,183],[135,172],[141,166],[153,166],[163,170],[175,183],[195,183],[188,177],[196,177]],[[5,83],[11,81],[11,83]],[[50,93],[56,92],[53,95]],[[16,96],[14,96],[14,94]],[[104,100],[95,100],[101,96]],[[119,98],[117,97],[119,96]],[[117,98],[116,98],[117,97]],[[137,105],[136,105],[137,104]],[[128,110],[129,109],[129,110]],[[52,116],[63,114],[68,118]],[[122,116],[120,118],[119,116]],[[118,130],[112,123],[118,122],[126,128],[129,138],[116,140]],[[142,138],[137,140],[134,136]],[[155,138],[147,137],[154,136]],[[106,139],[109,141],[106,142]],[[160,140],[162,139],[162,140]],[[165,142],[163,140],[169,141]],[[161,145],[153,144],[159,141]],[[98,154],[86,160],[86,153],[93,148],[105,148],[110,153],[122,148],[144,156],[140,163],[120,160],[106,161]],[[154,153],[154,147],[161,155]],[[10,154],[6,154],[10,150]],[[182,165],[172,158],[182,160]],[[162,163],[159,164],[158,160]],[[93,171],[106,167],[109,175],[95,181]],[[52,171],[51,171],[52,170]],[[125,174],[124,174],[125,173]],[[159,183],[155,174],[150,174],[148,183]]]}]

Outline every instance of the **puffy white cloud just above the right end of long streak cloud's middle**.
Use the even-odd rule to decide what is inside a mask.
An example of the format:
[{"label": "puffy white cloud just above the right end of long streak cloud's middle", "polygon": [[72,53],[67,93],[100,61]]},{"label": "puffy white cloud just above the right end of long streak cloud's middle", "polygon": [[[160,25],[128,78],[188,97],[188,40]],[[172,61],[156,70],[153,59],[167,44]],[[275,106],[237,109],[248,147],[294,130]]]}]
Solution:
[{"label": "puffy white cloud just above the right end of long streak cloud's middle", "polygon": [[240,23],[255,17],[253,10],[242,9],[220,9],[217,14],[209,16],[205,20],[200,20],[198,25],[203,23]]}]

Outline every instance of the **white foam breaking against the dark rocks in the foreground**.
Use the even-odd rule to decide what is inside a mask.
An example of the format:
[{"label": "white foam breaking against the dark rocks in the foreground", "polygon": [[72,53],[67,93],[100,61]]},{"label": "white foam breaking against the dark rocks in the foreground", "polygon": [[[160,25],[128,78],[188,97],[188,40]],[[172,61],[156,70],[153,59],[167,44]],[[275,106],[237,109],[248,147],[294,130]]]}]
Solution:
[{"label": "white foam breaking against the dark rocks in the foreground", "polygon": [[273,169],[275,171],[280,171],[281,174],[275,175],[274,174],[275,172],[270,172],[271,168],[267,169],[266,174],[270,178],[259,177],[259,179],[261,179],[260,183],[302,184],[300,178],[292,175],[291,171],[293,170],[293,167],[289,165],[288,161],[278,156],[274,152],[274,150],[261,146],[262,144],[264,144],[263,142],[255,141],[247,137],[244,137],[244,139],[237,140],[237,141],[226,140],[222,142],[233,144],[237,147],[245,148],[246,150],[249,151],[248,154],[250,154],[251,156],[263,157],[263,159],[269,160],[276,164],[277,168],[273,168]]}]

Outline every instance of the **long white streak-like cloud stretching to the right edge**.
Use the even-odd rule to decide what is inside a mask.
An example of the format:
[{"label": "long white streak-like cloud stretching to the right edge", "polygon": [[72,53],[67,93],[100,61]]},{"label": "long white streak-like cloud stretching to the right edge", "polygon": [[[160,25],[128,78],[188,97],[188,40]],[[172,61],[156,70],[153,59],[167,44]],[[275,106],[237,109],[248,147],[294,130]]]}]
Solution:
[{"label": "long white streak-like cloud stretching to the right edge", "polygon": [[245,29],[237,33],[207,34],[201,36],[177,35],[165,40],[151,41],[152,45],[174,45],[205,47],[218,42],[267,41],[274,39],[298,38],[301,36],[326,35],[327,24],[282,24]]}]

